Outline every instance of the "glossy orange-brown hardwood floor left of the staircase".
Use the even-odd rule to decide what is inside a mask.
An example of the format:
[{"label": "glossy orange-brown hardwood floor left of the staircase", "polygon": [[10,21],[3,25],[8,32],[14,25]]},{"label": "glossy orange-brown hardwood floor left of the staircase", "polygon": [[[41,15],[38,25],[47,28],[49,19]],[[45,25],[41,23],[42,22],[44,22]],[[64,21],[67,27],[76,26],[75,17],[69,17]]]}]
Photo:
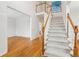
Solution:
[{"label": "glossy orange-brown hardwood floor left of the staircase", "polygon": [[42,39],[30,40],[24,37],[8,38],[8,53],[3,57],[38,57],[42,52]]}]

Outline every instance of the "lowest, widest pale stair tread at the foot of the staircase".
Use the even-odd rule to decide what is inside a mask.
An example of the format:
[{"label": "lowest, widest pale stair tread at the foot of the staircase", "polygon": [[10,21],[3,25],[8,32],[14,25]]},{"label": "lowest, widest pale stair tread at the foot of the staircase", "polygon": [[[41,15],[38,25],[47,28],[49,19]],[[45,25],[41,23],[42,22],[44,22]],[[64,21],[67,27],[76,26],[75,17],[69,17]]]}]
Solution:
[{"label": "lowest, widest pale stair tread at the foot of the staircase", "polygon": [[67,50],[63,50],[63,49],[57,49],[57,48],[47,48],[45,53],[49,53],[51,55],[56,55],[56,56],[60,56],[60,57],[66,57],[66,56],[70,56],[70,52]]}]

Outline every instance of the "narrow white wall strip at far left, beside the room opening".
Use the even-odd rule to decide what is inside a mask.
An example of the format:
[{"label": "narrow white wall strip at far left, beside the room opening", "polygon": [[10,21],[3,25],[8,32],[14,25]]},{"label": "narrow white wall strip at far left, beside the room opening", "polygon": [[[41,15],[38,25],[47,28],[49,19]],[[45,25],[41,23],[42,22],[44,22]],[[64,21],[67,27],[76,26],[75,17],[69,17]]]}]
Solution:
[{"label": "narrow white wall strip at far left, beside the room opening", "polygon": [[0,56],[7,52],[6,4],[0,2]]}]

